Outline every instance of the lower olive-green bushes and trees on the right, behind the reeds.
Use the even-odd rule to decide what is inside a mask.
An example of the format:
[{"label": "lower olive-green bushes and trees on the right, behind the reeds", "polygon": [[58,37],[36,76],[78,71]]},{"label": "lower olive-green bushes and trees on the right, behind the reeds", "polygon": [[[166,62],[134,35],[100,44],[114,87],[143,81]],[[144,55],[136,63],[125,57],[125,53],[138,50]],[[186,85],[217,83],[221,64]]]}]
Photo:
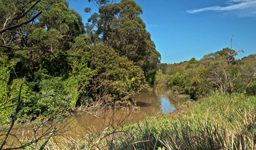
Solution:
[{"label": "lower olive-green bushes and trees on the right, behind the reeds", "polygon": [[236,60],[239,51],[223,48],[200,61],[161,64],[156,76],[158,86],[198,99],[213,92],[256,94],[256,54]]}]

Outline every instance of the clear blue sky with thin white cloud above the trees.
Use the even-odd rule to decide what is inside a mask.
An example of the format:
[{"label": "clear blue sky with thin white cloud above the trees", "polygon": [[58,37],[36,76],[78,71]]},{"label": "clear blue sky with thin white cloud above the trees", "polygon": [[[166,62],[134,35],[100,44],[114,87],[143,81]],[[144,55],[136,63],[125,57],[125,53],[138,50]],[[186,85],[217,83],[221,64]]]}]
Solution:
[{"label": "clear blue sky with thin white cloud above the trees", "polygon": [[[162,63],[179,63],[230,48],[243,49],[236,58],[256,53],[256,0],[135,0],[143,9],[140,16],[161,54]],[[87,22],[83,10],[93,3],[69,0]],[[119,2],[118,0],[116,2]]]}]

